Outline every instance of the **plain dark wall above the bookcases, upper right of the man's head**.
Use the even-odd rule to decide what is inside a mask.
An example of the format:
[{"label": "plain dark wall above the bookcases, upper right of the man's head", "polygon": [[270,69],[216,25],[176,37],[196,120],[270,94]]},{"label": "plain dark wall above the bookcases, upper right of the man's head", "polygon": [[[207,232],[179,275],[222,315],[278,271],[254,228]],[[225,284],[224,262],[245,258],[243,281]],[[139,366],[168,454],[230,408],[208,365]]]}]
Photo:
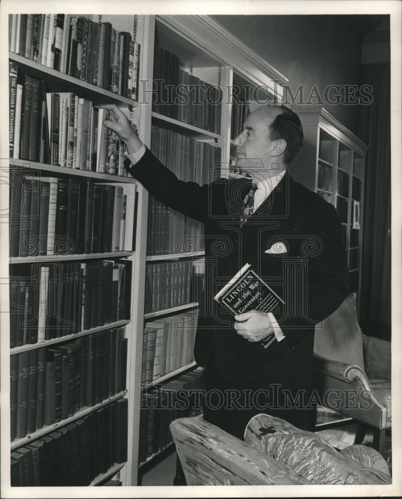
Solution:
[{"label": "plain dark wall above the bookcases, upper right of the man's head", "polygon": [[[314,85],[322,99],[328,85],[360,86],[362,35],[346,15],[213,17],[286,76],[293,94],[298,85],[305,85],[305,101]],[[314,98],[310,102],[318,103]],[[325,107],[358,135],[359,105]]]}]

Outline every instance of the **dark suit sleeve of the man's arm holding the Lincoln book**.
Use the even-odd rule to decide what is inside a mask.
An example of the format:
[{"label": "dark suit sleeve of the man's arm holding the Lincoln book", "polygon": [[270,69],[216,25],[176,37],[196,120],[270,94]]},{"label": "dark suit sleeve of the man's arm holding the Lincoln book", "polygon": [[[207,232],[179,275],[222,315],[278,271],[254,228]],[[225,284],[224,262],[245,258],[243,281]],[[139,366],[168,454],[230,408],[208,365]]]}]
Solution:
[{"label": "dark suit sleeve of the man's arm holding the Lincoln book", "polygon": [[[304,231],[307,255],[306,292],[294,293],[305,306],[303,317],[286,317],[279,321],[287,343],[294,343],[316,323],[330,316],[348,294],[349,271],[344,248],[342,226],[335,208],[329,203],[312,206],[311,217],[306,218]],[[311,240],[311,243],[307,241]],[[315,243],[316,245],[315,245]],[[290,295],[288,294],[288,297]],[[297,306],[297,305],[296,305]],[[285,340],[284,340],[285,341]]]}]

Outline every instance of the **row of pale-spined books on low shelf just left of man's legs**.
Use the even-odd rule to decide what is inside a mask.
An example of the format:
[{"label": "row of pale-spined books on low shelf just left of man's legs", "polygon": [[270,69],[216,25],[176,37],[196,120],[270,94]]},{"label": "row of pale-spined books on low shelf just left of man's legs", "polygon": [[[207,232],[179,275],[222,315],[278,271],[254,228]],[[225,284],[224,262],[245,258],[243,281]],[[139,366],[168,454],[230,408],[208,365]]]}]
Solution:
[{"label": "row of pale-spined books on low shelf just left of man's legs", "polygon": [[194,312],[147,322],[142,343],[143,384],[190,364],[198,317]]}]

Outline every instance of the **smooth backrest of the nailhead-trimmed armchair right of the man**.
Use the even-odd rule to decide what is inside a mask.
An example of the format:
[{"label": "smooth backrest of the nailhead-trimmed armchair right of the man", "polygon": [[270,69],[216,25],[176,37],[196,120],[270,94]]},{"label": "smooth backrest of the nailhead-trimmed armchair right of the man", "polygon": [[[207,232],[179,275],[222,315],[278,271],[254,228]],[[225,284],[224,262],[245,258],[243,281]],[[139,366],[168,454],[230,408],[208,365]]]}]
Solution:
[{"label": "smooth backrest of the nailhead-trimmed armchair right of the man", "polygon": [[364,336],[351,293],[327,319],[316,325],[314,353],[330,360],[358,365],[365,370]]}]

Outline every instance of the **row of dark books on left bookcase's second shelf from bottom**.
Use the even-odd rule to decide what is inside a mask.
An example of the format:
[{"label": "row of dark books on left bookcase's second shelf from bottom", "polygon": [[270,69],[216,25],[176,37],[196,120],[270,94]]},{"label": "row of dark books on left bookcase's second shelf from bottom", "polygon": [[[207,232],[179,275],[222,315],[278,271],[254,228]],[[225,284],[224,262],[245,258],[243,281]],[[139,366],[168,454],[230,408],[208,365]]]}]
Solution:
[{"label": "row of dark books on left bookcase's second shelf from bottom", "polygon": [[123,328],[12,355],[11,441],[125,390],[126,363]]}]

